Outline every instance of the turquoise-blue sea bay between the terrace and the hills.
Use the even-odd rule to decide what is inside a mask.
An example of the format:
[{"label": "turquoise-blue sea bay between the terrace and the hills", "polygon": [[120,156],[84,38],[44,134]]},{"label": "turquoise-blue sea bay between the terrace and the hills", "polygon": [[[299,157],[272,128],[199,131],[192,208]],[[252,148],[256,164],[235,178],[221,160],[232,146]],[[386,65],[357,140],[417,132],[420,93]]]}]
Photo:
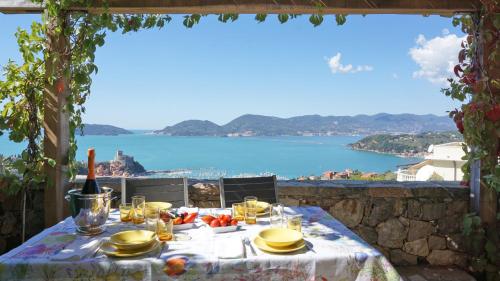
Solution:
[{"label": "turquoise-blue sea bay between the terrace and the hills", "polygon": [[[395,171],[397,165],[418,162],[373,152],[354,151],[356,136],[330,137],[171,137],[136,132],[120,136],[78,137],[78,160],[89,147],[97,161],[114,158],[117,150],[131,155],[146,170],[171,171],[168,176],[218,178],[276,174],[280,179],[321,175],[328,170]],[[24,144],[0,136],[0,154],[18,154]]]}]

